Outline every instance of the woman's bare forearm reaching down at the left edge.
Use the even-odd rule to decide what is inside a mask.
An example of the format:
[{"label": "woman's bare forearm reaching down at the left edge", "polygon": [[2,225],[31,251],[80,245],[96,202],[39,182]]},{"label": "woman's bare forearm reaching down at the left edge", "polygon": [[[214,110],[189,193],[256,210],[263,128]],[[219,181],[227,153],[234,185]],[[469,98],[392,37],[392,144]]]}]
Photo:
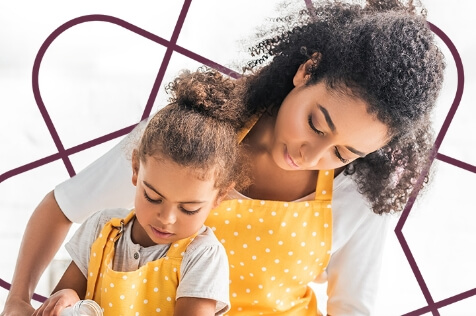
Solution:
[{"label": "woman's bare forearm reaching down at the left edge", "polygon": [[66,238],[71,224],[56,203],[53,192],[49,192],[26,226],[2,315],[32,314],[34,309],[30,300],[35,287]]}]

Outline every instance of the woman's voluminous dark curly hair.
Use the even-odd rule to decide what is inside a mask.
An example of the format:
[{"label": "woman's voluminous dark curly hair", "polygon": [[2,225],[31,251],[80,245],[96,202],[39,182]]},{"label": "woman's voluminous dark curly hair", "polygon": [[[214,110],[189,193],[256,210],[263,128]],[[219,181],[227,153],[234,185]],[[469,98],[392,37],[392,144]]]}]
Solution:
[{"label": "woman's voluminous dark curly hair", "polygon": [[250,49],[243,88],[248,111],[278,109],[299,65],[315,60],[308,85],[350,88],[388,126],[388,144],[347,165],[345,174],[375,213],[401,211],[428,165],[430,116],[443,81],[443,55],[424,10],[411,1],[321,2],[278,22],[277,35]]}]

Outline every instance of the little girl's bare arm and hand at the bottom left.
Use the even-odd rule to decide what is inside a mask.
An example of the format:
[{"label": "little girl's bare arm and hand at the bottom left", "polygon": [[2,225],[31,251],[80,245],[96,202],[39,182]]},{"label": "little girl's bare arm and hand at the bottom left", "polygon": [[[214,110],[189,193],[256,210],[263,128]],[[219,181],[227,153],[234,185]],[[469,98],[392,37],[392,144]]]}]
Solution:
[{"label": "little girl's bare arm and hand at the bottom left", "polygon": [[72,261],[53,290],[53,294],[32,316],[59,315],[66,307],[74,305],[80,299],[84,299],[86,287],[86,278],[74,261]]}]

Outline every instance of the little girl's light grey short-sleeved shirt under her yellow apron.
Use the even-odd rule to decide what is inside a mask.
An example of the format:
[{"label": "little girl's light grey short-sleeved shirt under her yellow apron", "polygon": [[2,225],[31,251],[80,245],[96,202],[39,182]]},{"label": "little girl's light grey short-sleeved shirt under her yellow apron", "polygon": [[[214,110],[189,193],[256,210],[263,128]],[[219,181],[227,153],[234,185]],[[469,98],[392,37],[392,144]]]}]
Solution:
[{"label": "little girl's light grey short-sleeved shirt under her yellow apron", "polygon": [[[98,238],[102,228],[111,218],[125,218],[128,209],[110,209],[97,212],[89,217],[65,245],[74,263],[87,278],[91,245]],[[132,219],[124,227],[124,233],[116,242],[113,270],[134,271],[147,262],[164,257],[170,244],[142,247],[131,239]],[[225,249],[213,231],[203,226],[197,237],[190,243],[180,266],[180,283],[176,299],[199,297],[217,302],[216,315],[230,309],[229,268]]]}]

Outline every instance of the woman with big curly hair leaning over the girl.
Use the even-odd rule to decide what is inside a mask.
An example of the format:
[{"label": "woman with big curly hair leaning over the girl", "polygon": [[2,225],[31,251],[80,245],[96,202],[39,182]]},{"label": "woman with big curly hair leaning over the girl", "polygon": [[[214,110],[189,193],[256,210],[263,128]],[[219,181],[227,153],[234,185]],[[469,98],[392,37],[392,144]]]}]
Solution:
[{"label": "woman with big curly hair leaning over the girl", "polygon": [[[206,222],[227,251],[230,315],[319,314],[313,280],[328,282],[328,314],[372,313],[390,229],[379,214],[401,211],[427,166],[444,63],[411,1],[367,2],[283,16],[284,26],[263,32],[271,35],[251,49],[250,71],[235,90],[253,182],[232,191]],[[52,231],[58,243],[68,219],[106,206],[103,197],[130,203],[124,161],[117,146],[40,204],[11,304],[29,300],[31,278],[55,250],[51,237],[33,232]],[[108,185],[85,199],[91,178]],[[51,254],[40,256],[34,240]]]}]

